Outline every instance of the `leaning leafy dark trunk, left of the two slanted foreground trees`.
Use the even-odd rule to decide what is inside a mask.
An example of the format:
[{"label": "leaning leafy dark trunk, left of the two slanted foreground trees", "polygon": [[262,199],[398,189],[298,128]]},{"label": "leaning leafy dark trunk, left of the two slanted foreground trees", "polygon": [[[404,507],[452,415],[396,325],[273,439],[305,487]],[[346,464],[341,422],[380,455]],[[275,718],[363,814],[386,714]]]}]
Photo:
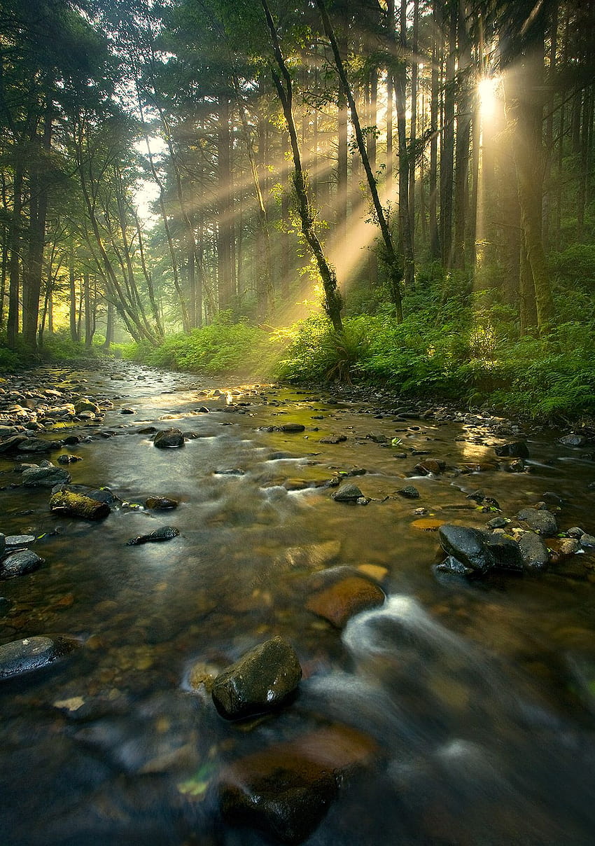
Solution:
[{"label": "leaning leafy dark trunk, left of the two slanted foreground trees", "polygon": [[308,184],[305,173],[302,167],[302,157],[299,151],[298,133],[296,125],[293,120],[292,113],[292,78],[287,69],[287,64],[281,52],[281,45],[277,36],[277,30],[273,21],[270,9],[266,0],[261,0],[262,7],[265,11],[266,23],[269,28],[270,38],[273,45],[273,52],[275,60],[281,76],[272,69],[273,81],[281,101],[283,114],[287,123],[287,130],[289,132],[289,140],[292,148],[293,158],[293,184],[296,190],[296,198],[298,201],[298,215],[302,227],[303,237],[308,244],[309,250],[314,256],[316,264],[319,269],[319,274],[322,279],[323,288],[325,290],[325,311],[336,332],[343,332],[343,322],[341,321],[341,292],[336,283],[335,271],[330,267],[326,260],[325,252],[322,249],[322,244],[319,242],[318,235],[314,229],[314,216],[310,208],[308,199]]}]

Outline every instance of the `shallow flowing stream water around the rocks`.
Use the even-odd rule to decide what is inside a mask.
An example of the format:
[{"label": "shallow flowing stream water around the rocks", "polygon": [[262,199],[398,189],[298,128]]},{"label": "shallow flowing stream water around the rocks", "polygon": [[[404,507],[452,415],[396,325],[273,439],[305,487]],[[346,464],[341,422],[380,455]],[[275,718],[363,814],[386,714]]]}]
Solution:
[{"label": "shallow flowing stream water around the rocks", "polygon": [[[531,472],[508,474],[481,421],[402,420],[291,389],[217,394],[196,377],[142,374],[85,374],[86,392],[122,393],[101,426],[76,431],[115,434],[62,450],[83,459],[68,467],[74,483],[123,500],[101,523],[50,514],[47,489],[10,487],[14,462],[0,461],[0,529],[34,534],[45,558],[0,583],[13,603],[0,642],[60,633],[82,644],[0,683],[0,841],[258,846],[264,835],[221,819],[221,767],[338,724],[379,751],[345,779],[311,846],[592,844],[595,562],[587,553],[546,573],[446,577],[434,570],[437,535],[414,514],[482,527],[494,514],[467,499],[477,488],[505,515],[553,491],[567,501],[561,527],[593,532],[584,451],[542,433],[530,439]],[[306,431],[266,431],[288,422]],[[157,449],[139,433],[152,424],[196,437]],[[347,441],[321,444],[329,434]],[[483,471],[406,480],[420,460],[412,448]],[[367,471],[350,479],[365,507],[333,501],[324,485],[354,467]],[[418,500],[396,496],[406,484]],[[139,507],[150,495],[179,506]],[[127,546],[161,525],[180,535]],[[342,632],[306,608],[308,578],[336,565],[373,567],[387,596]],[[276,634],[303,666],[297,698],[226,722],[200,679]]]}]

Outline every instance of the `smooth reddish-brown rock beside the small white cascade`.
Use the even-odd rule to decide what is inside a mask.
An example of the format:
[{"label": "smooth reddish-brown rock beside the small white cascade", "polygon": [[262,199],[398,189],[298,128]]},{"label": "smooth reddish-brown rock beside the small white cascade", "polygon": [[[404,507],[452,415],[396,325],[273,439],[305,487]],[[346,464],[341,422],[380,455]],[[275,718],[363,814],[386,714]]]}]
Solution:
[{"label": "smooth reddish-brown rock beside the small white cascade", "polygon": [[308,611],[328,620],[336,629],[342,629],[355,614],[385,602],[385,593],[379,585],[349,567],[316,574],[308,580],[308,591]]}]

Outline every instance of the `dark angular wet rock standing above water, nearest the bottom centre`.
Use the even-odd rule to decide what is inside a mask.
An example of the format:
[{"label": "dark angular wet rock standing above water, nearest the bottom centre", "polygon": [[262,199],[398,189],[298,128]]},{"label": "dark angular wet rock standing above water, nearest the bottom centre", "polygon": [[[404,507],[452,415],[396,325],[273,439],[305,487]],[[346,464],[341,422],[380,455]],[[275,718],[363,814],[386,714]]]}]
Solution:
[{"label": "dark angular wet rock standing above water, nearest the bottom centre", "polygon": [[221,717],[237,720],[281,706],[301,678],[302,667],[292,645],[275,637],[254,646],[220,673],[211,695]]}]

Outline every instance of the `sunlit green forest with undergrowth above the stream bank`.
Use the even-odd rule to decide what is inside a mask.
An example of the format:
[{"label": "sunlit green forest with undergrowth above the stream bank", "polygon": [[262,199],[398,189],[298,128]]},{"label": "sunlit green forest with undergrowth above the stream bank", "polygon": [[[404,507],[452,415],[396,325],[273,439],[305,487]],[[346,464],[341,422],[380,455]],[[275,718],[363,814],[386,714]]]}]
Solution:
[{"label": "sunlit green forest with undergrowth above the stream bank", "polygon": [[595,4],[2,0],[0,365],[595,413]]}]

